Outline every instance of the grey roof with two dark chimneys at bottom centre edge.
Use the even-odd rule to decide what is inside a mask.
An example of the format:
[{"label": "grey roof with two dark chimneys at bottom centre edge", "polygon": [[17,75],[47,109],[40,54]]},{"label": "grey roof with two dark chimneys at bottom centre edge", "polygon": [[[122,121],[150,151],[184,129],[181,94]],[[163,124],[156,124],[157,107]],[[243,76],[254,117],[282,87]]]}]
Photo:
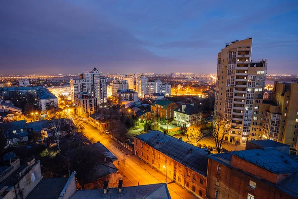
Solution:
[{"label": "grey roof with two dark chimneys at bottom centre edge", "polygon": [[[103,189],[77,190],[70,199],[171,199],[165,183],[109,188],[110,194],[103,194]],[[108,192],[109,193],[109,192]]]}]

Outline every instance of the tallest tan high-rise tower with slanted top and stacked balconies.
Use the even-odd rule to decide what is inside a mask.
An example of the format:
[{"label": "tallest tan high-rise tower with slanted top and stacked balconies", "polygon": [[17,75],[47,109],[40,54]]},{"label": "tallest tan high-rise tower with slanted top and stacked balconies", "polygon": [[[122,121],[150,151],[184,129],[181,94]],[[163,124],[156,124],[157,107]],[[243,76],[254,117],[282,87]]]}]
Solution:
[{"label": "tallest tan high-rise tower with slanted top and stacked balconies", "polygon": [[[215,114],[230,119],[230,142],[245,143],[251,123],[263,99],[267,60],[251,61],[252,38],[226,43],[218,53]],[[253,138],[254,139],[254,138]]]}]

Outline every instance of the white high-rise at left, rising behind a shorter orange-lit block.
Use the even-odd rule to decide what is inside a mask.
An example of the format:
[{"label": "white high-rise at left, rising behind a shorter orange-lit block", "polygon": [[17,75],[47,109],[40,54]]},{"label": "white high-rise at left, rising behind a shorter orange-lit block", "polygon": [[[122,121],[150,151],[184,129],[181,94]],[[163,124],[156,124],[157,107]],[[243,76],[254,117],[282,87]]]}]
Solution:
[{"label": "white high-rise at left, rising behind a shorter orange-lit block", "polygon": [[74,96],[79,92],[91,93],[97,99],[97,105],[107,103],[107,80],[94,68],[91,72],[81,72],[79,79],[70,80],[71,98],[74,103]]}]

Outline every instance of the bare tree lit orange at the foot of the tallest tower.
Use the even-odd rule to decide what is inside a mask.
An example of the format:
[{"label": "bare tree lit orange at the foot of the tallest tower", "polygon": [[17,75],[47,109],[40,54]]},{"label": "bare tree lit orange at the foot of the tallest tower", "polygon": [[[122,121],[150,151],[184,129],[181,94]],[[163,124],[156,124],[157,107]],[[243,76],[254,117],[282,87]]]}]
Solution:
[{"label": "bare tree lit orange at the foot of the tallest tower", "polygon": [[215,147],[220,153],[224,141],[224,137],[229,134],[231,130],[230,119],[224,115],[215,114],[213,118],[212,137],[215,141]]}]

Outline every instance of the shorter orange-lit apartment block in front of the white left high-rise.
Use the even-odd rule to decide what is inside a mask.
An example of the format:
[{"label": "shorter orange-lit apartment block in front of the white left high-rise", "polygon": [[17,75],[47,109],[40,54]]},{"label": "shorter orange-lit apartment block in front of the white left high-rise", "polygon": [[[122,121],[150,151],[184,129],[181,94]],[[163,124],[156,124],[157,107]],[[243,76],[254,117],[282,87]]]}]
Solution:
[{"label": "shorter orange-lit apartment block in front of the white left high-rise", "polygon": [[89,117],[97,110],[96,98],[88,92],[79,92],[75,94],[75,111],[77,115]]}]

